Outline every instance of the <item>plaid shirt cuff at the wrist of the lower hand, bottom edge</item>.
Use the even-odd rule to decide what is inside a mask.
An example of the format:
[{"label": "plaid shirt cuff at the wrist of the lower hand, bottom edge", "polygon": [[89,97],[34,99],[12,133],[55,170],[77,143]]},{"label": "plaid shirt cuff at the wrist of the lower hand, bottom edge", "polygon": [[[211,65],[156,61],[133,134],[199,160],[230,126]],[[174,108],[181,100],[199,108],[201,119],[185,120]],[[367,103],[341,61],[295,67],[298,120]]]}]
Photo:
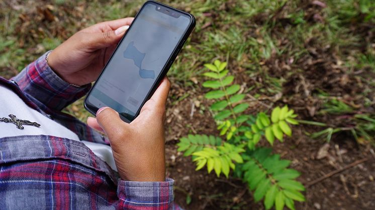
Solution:
[{"label": "plaid shirt cuff at the wrist of the lower hand, bottom edge", "polygon": [[118,209],[174,209],[173,183],[171,178],[160,182],[119,179]]}]

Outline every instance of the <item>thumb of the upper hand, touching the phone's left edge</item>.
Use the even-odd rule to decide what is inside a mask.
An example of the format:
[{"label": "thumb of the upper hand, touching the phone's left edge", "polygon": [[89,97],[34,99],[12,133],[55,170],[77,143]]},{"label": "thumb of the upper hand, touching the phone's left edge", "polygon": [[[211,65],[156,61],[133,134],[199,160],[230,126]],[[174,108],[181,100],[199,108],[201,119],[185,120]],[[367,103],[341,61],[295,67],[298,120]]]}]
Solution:
[{"label": "thumb of the upper hand, touching the phone's left edge", "polygon": [[103,33],[92,33],[89,34],[86,39],[88,47],[101,49],[111,45],[115,45],[119,42],[124,32],[129,29],[129,26],[122,26],[115,31],[108,31]]}]

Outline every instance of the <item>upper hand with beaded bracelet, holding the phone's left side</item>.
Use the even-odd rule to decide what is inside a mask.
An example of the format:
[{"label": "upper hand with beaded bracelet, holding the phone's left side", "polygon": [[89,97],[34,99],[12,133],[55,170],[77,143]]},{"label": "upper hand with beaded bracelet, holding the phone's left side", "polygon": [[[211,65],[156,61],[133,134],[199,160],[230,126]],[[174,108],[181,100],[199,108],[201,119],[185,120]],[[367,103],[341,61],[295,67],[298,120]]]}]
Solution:
[{"label": "upper hand with beaded bracelet, holding the phone's left side", "polygon": [[107,21],[75,33],[50,53],[48,65],[68,83],[93,82],[133,19]]}]

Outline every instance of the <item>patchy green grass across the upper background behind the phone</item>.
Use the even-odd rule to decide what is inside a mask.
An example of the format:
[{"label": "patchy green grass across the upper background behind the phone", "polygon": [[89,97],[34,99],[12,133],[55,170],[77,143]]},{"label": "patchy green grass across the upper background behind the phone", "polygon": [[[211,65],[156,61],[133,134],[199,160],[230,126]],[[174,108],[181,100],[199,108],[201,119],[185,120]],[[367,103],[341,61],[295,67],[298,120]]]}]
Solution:
[{"label": "patchy green grass across the upper background behind the phone", "polygon": [[[17,11],[10,3],[1,2],[0,71],[22,70],[43,52],[55,48],[87,26],[134,16],[143,2],[35,1],[27,3],[26,7],[21,5]],[[197,84],[192,82],[192,78],[200,81],[203,64],[219,59],[229,63],[230,72],[243,72],[241,74],[250,78],[246,93],[255,97],[281,94],[290,78],[305,73],[304,59],[314,59],[309,52],[311,48],[327,48],[327,60],[340,61],[345,67],[343,71],[349,75],[353,72],[375,73],[374,43],[373,40],[364,40],[366,33],[375,33],[374,1],[329,0],[325,2],[325,8],[299,0],[162,2],[184,9],[197,19],[195,31],[168,73],[172,82],[180,87],[196,89]],[[51,13],[58,22],[43,20],[35,9],[28,9],[46,8],[48,4],[52,6]],[[22,21],[21,15],[26,17],[27,23]],[[314,15],[322,20],[315,20]],[[354,30],[355,27],[358,30]],[[289,69],[280,69],[282,63]],[[375,81],[361,74],[355,77],[366,86],[360,93],[363,103],[367,107],[373,106],[370,94]],[[328,91],[327,97],[332,94],[321,87],[313,91],[315,95],[312,97],[317,98],[320,91]],[[170,96],[173,104],[185,97],[192,96]],[[88,116],[82,100],[73,106],[66,111],[80,119]],[[323,112],[324,109],[327,108],[323,107]],[[325,113],[332,114],[329,111]]]}]

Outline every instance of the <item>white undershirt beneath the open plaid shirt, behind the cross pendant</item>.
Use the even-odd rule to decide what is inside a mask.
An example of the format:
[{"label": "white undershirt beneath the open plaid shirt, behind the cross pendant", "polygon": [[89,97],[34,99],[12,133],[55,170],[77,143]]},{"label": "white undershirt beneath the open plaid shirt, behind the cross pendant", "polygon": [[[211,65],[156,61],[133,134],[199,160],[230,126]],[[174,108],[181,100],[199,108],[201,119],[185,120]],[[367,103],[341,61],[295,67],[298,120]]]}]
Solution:
[{"label": "white undershirt beneath the open plaid shirt, behind the cross pendant", "polygon": [[[21,135],[47,135],[80,141],[77,134],[30,108],[16,93],[0,85],[0,118],[10,118],[8,116],[10,114],[16,115],[21,120],[37,122],[41,126],[24,125],[24,129],[20,130],[13,123],[0,122],[0,138]],[[90,148],[94,154],[106,161],[114,170],[117,170],[110,146],[89,141],[81,142]]]}]

